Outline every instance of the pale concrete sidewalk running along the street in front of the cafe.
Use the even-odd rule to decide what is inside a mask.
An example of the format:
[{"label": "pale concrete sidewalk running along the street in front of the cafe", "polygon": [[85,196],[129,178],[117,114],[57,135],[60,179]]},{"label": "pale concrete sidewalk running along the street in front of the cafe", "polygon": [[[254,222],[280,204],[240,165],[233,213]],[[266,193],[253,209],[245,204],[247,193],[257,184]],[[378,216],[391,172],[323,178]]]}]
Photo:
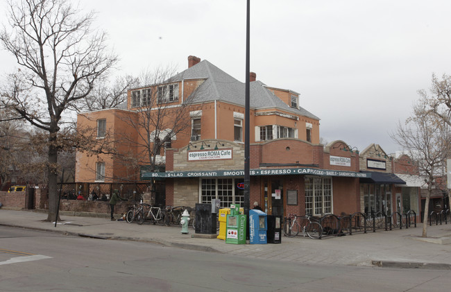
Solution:
[{"label": "pale concrete sidewalk running along the street in front of the cafe", "polygon": [[[451,270],[451,224],[427,227],[427,239],[420,238],[422,223],[409,229],[330,237],[282,237],[281,244],[235,245],[219,239],[193,238],[181,234],[181,227],[137,225],[109,218],[61,215],[62,222],[44,222],[46,214],[0,209],[0,225],[45,230],[82,237],[158,243],[162,246],[221,252],[240,257],[258,257],[304,264],[395,266]],[[433,242],[429,242],[433,241]],[[445,244],[447,243],[448,244]]]}]

